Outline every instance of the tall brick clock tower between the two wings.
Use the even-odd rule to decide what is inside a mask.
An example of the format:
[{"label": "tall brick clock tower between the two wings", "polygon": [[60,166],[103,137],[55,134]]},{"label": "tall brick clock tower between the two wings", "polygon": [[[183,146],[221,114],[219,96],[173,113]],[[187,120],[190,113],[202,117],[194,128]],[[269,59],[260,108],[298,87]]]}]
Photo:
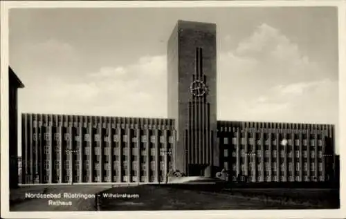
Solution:
[{"label": "tall brick clock tower between the two wings", "polygon": [[215,176],[217,147],[216,25],[178,21],[167,46],[168,116],[176,120],[174,166]]}]

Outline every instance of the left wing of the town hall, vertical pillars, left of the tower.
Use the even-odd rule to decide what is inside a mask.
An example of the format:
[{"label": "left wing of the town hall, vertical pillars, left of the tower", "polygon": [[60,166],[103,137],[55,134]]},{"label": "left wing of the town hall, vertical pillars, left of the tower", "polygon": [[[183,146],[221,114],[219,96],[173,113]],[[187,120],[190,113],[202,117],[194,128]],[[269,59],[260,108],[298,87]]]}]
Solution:
[{"label": "left wing of the town hall, vertical pillars, left of the tower", "polygon": [[165,182],[174,120],[22,115],[23,183]]}]

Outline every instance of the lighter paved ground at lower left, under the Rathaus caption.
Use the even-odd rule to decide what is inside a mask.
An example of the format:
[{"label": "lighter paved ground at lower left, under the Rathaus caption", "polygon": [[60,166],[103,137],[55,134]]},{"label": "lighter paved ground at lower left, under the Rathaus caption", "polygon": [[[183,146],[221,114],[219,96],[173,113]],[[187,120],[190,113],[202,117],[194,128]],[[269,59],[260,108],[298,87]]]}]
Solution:
[{"label": "lighter paved ground at lower left, under the Rathaus caption", "polygon": [[[45,189],[46,188],[46,189]],[[74,186],[33,186],[22,187],[10,191],[10,211],[95,211],[95,198],[61,198],[61,202],[72,202],[72,205],[48,205],[48,199],[25,199],[25,193],[83,193],[95,194],[109,189],[104,185],[74,185]]]}]

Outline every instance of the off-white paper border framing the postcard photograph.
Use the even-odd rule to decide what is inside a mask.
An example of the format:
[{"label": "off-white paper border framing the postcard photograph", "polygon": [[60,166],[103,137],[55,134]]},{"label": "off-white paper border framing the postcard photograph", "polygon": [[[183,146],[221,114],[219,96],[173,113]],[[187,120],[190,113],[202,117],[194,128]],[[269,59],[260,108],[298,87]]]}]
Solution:
[{"label": "off-white paper border framing the postcard photograph", "polygon": [[340,204],[337,210],[239,210],[239,211],[66,211],[10,212],[8,191],[8,10],[10,8],[149,8],[149,7],[338,7],[339,34],[339,121],[336,137],[346,143],[346,1],[1,1],[1,218],[346,218],[346,149],[340,146]]}]

